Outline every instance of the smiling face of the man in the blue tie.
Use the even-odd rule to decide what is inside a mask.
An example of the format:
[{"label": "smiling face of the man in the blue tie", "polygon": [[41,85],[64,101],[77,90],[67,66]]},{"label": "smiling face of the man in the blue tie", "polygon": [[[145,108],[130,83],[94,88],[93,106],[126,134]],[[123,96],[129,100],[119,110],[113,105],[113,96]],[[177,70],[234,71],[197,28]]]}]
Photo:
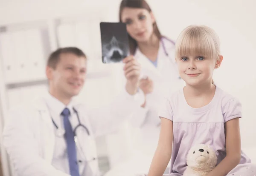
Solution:
[{"label": "smiling face of the man in the blue tie", "polygon": [[61,54],[56,68],[47,68],[52,94],[71,98],[81,91],[86,77],[87,60],[75,54]]}]

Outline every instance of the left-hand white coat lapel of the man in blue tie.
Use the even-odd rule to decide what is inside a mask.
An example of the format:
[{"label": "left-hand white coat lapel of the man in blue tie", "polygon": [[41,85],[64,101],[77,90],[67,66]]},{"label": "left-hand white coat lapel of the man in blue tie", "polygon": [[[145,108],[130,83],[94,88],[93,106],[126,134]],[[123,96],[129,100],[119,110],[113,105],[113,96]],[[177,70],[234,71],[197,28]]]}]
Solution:
[{"label": "left-hand white coat lapel of the man in blue tie", "polygon": [[38,119],[40,123],[41,149],[44,159],[51,163],[54,152],[55,131],[49,110],[45,103],[46,102],[43,99],[39,100],[35,103],[35,109],[38,111]]}]

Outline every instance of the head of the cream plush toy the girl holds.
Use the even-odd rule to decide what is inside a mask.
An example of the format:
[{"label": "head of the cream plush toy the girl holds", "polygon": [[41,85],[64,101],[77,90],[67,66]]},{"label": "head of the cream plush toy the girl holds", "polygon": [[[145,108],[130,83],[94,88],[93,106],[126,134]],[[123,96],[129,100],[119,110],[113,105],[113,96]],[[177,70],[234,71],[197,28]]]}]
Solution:
[{"label": "head of the cream plush toy the girl holds", "polygon": [[217,164],[217,156],[208,145],[195,145],[187,155],[187,165],[199,170],[212,170]]}]

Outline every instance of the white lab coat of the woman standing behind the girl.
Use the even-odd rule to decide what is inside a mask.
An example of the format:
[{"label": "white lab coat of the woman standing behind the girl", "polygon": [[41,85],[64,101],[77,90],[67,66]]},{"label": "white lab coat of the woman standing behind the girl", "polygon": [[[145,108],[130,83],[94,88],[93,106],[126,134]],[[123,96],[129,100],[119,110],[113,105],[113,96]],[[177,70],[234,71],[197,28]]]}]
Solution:
[{"label": "white lab coat of the woman standing behind the girl", "polygon": [[[133,139],[134,153],[144,153],[145,156],[153,157],[157,148],[158,138],[160,134],[160,119],[158,111],[165,104],[166,97],[174,91],[185,86],[183,79],[180,79],[177,64],[175,62],[175,45],[165,37],[162,38],[164,43],[160,42],[160,48],[157,56],[157,67],[155,67],[148,58],[145,57],[138,49],[134,57],[142,66],[142,76],[149,77],[153,80],[154,88],[151,94],[146,95],[146,107],[137,108],[133,115],[134,124]],[[165,48],[165,50],[164,50]],[[166,56],[167,52],[168,56]],[[135,123],[135,119],[142,120]],[[134,128],[135,127],[135,128]],[[137,127],[137,128],[136,128]]]}]

